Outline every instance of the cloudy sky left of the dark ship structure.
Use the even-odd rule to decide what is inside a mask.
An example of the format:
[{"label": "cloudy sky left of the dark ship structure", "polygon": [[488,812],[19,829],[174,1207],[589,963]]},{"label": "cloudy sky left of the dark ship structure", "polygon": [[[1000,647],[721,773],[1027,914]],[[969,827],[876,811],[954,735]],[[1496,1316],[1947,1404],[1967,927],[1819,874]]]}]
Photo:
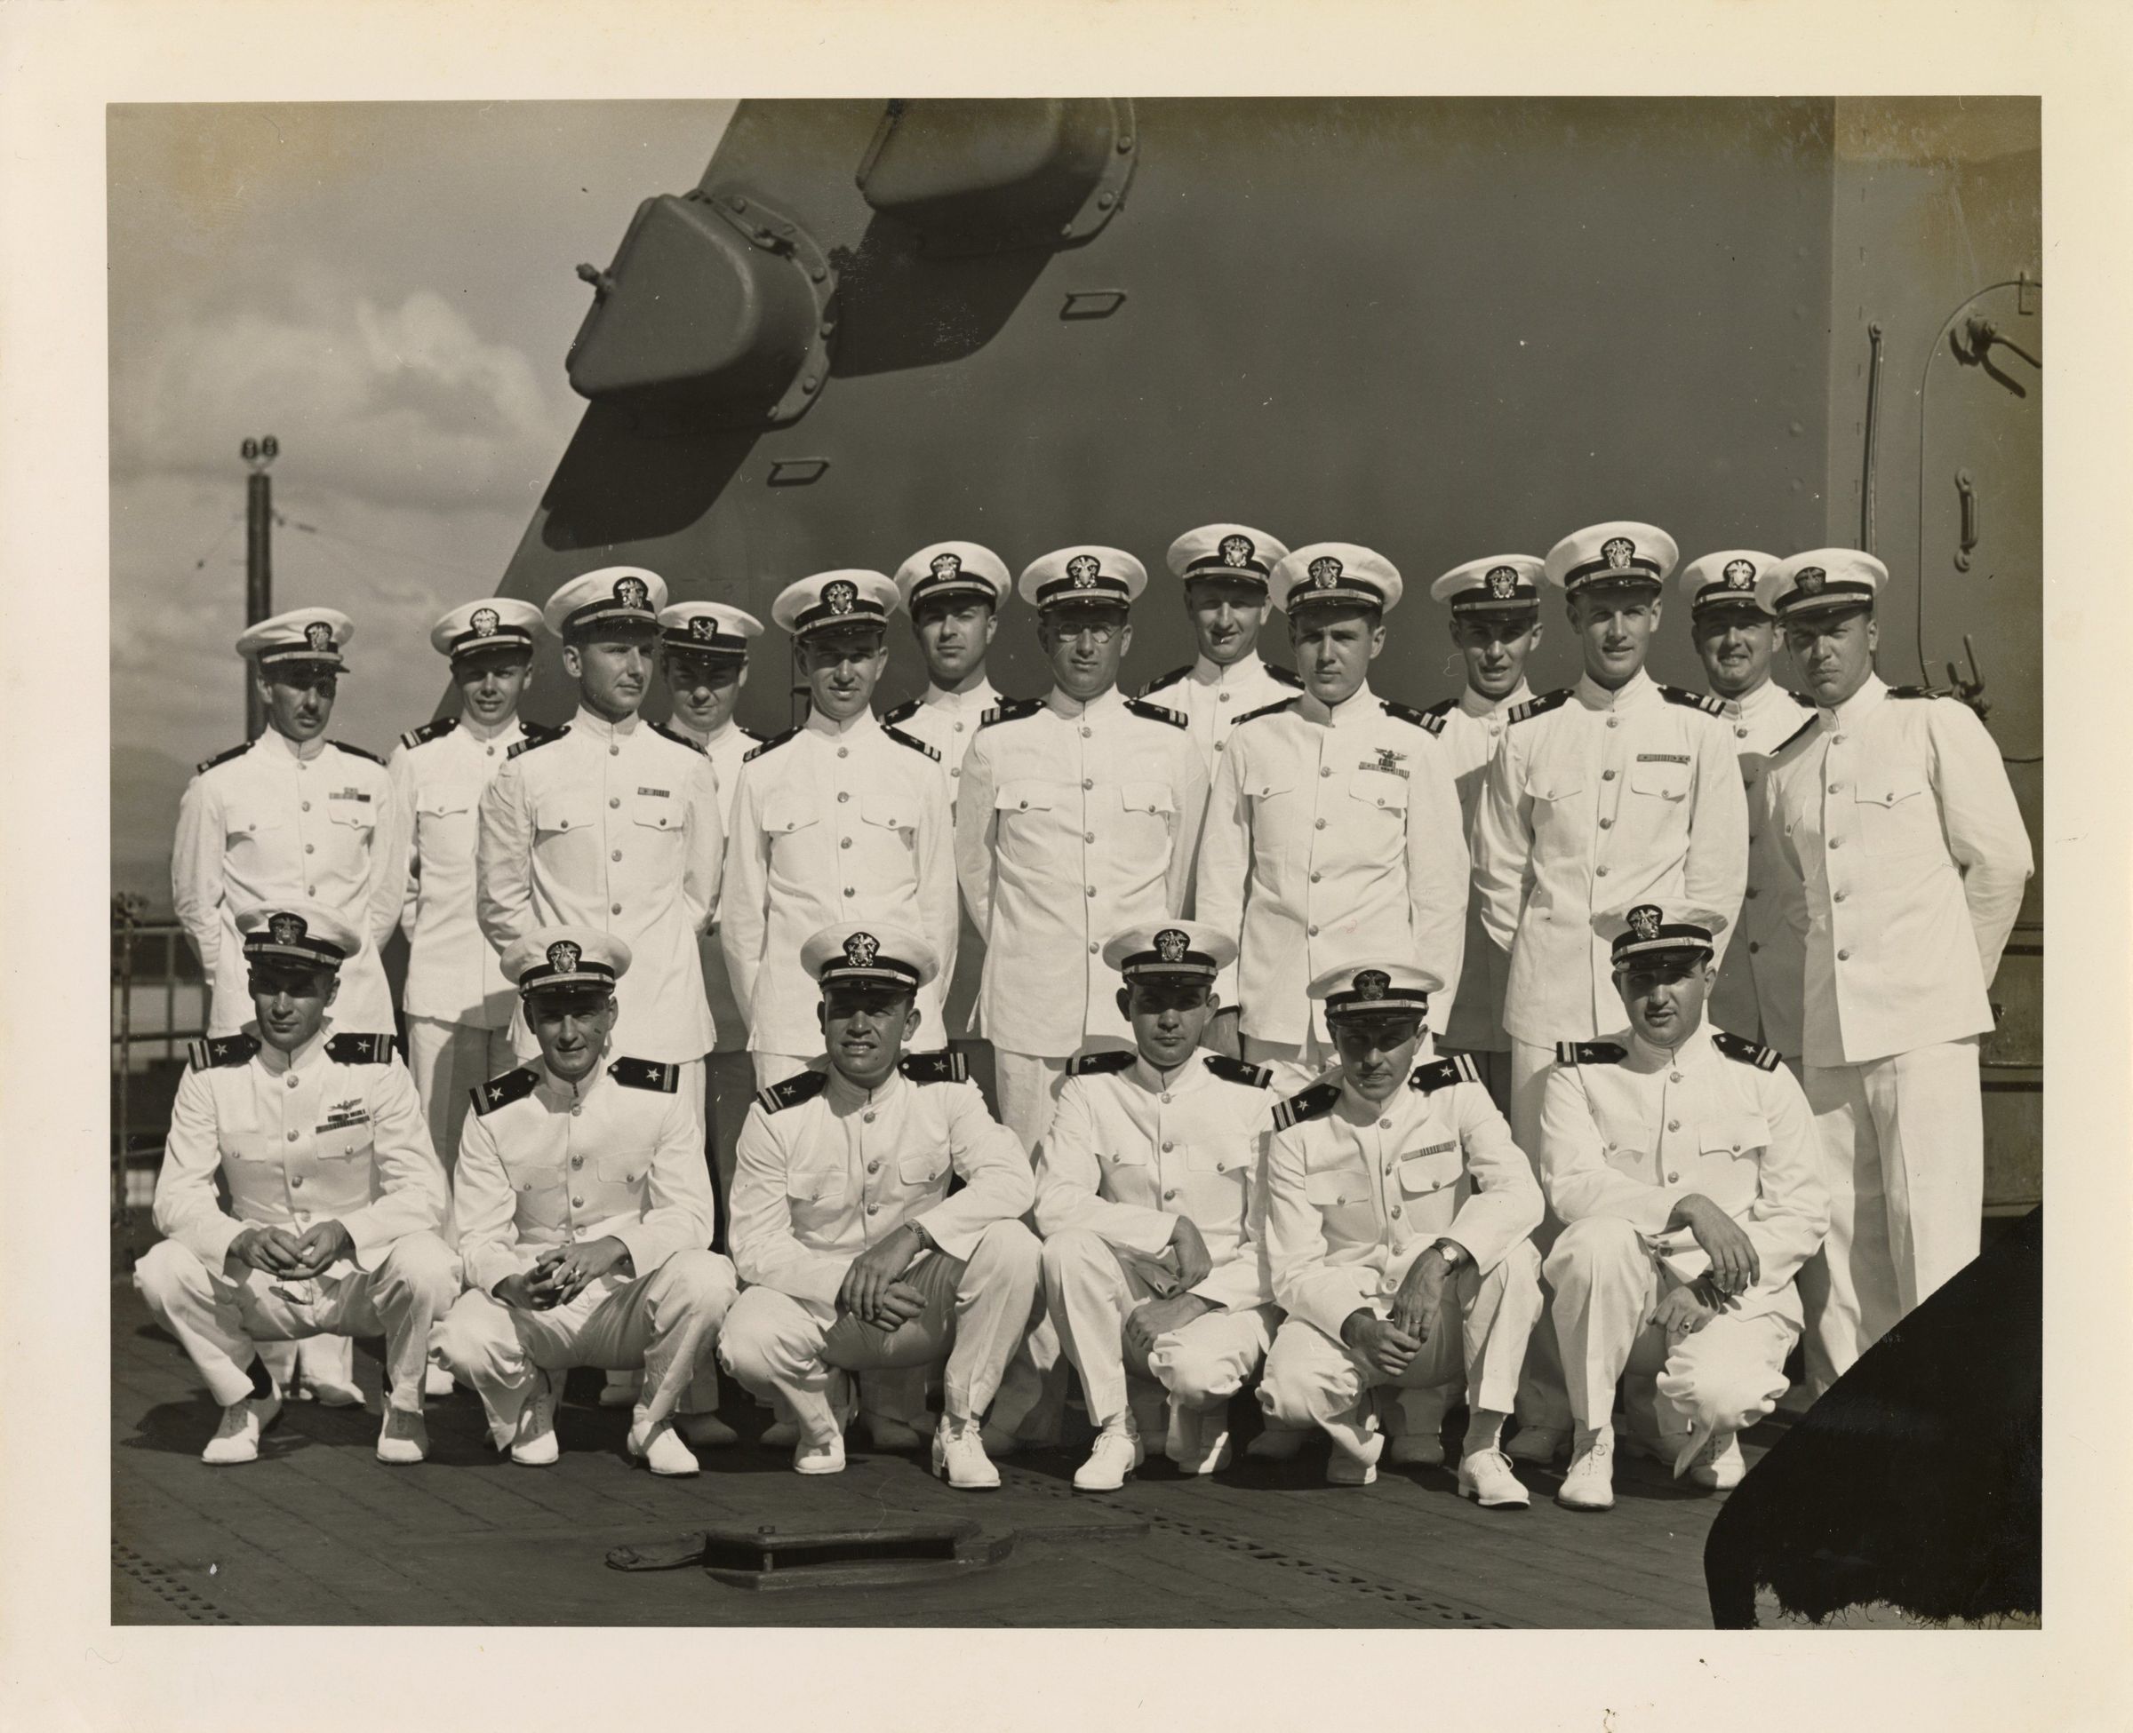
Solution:
[{"label": "cloudy sky left of the dark ship structure", "polygon": [[578,424],[576,264],[702,179],[732,107],[109,111],[115,889],[169,902],[183,782],[245,738],[241,441],[282,446],[275,610],[356,622],[331,733],[384,752]]}]

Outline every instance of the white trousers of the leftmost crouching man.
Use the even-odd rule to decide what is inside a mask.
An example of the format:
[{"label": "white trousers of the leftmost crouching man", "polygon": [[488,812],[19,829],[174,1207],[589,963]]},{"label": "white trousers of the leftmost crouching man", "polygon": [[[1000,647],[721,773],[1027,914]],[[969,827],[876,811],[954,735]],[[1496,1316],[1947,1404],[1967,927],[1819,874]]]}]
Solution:
[{"label": "white trousers of the leftmost crouching man", "polygon": [[243,1275],[211,1270],[177,1241],[160,1241],[134,1266],[134,1287],[222,1407],[252,1394],[258,1343],[335,1332],[384,1337],[386,1400],[420,1413],[429,1332],[459,1292],[459,1258],[435,1234],[405,1234],[371,1270],[343,1260],[296,1281],[250,1264]]}]

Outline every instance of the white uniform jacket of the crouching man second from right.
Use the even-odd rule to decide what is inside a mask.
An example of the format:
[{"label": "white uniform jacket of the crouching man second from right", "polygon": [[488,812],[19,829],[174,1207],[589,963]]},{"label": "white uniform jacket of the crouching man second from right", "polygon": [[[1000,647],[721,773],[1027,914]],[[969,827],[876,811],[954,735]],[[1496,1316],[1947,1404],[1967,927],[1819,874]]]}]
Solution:
[{"label": "white uniform jacket of the crouching man second from right", "polygon": [[1416,1066],[1376,1108],[1325,1079],[1282,1102],[1273,1125],[1273,1298],[1335,1341],[1348,1313],[1393,1294],[1440,1238],[1487,1275],[1540,1226],[1534,1164],[1465,1055]]}]

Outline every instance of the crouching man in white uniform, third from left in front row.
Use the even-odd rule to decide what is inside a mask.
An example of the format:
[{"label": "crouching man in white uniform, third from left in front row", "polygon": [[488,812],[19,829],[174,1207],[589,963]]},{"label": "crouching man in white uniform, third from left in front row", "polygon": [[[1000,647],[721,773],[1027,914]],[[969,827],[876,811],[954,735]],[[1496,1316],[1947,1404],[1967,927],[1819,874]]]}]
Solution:
[{"label": "crouching man in white uniform, third from left in front row", "polygon": [[[1022,1143],[964,1079],[915,1053],[915,1000],[941,970],[902,927],[838,923],[800,959],[821,983],[823,1068],[757,1094],[734,1170],[734,1262],[749,1290],[719,1358],[800,1426],[793,1469],[845,1467],[851,1373],[947,1356],[932,1467],[998,1486],[979,1422],[1037,1302]],[[964,1187],[949,1196],[949,1181]]]}]

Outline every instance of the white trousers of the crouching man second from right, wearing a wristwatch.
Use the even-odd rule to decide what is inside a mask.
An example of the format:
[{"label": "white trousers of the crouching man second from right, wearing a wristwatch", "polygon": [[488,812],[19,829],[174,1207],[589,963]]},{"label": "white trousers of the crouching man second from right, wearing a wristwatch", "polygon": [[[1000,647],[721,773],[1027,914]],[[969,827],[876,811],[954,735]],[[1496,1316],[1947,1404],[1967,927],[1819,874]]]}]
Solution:
[{"label": "white trousers of the crouching man second from right, wearing a wristwatch", "polygon": [[[1474,1407],[1510,1413],[1525,1343],[1540,1319],[1540,1253],[1519,1241],[1489,1275],[1465,1262],[1453,1292],[1459,1328],[1440,1328],[1397,1379],[1316,1324],[1286,1319],[1267,1351],[1258,1405],[1278,1426],[1322,1426],[1350,1456],[1372,1454],[1378,1418],[1365,1398],[1380,1386],[1429,1390],[1465,1373]],[[1378,1317],[1393,1311],[1389,1294],[1361,1305]]]}]

